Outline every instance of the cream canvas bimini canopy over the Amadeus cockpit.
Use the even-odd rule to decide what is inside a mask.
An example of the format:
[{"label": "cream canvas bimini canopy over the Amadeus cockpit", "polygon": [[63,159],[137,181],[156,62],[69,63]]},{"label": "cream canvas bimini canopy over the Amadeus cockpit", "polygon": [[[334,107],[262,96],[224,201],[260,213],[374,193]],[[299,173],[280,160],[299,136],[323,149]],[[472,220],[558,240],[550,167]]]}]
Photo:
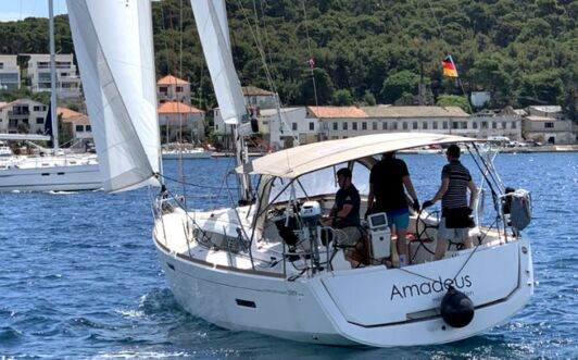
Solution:
[{"label": "cream canvas bimini canopy over the Amadeus cockpit", "polygon": [[307,144],[255,159],[238,173],[294,178],[345,161],[436,144],[474,142],[479,139],[445,134],[387,133]]}]

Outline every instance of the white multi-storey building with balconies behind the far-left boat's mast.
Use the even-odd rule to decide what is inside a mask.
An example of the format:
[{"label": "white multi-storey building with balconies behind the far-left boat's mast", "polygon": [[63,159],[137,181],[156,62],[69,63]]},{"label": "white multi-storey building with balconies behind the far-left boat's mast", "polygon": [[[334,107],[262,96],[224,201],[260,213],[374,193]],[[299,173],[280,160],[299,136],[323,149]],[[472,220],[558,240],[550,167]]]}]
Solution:
[{"label": "white multi-storey building with balconies behind the far-left boat's mast", "polygon": [[[29,57],[27,79],[33,92],[50,91],[50,54],[21,54]],[[56,60],[56,95],[61,99],[80,97],[80,77],[76,72],[74,55],[59,53]]]}]

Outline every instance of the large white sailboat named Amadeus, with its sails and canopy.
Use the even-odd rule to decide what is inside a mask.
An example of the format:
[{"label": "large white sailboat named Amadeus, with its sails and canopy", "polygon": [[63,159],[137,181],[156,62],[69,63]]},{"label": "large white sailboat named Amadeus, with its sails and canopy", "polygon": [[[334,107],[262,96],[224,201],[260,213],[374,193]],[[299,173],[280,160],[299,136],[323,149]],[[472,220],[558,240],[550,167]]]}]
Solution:
[{"label": "large white sailboat named Amadeus, with its sails and canopy", "polygon": [[[432,261],[438,220],[414,213],[412,265],[392,268],[391,259],[384,258],[389,256],[387,229],[372,218],[372,259],[352,269],[344,260],[347,249],[335,241],[326,245],[321,236],[336,232],[318,222],[335,200],[336,169],[350,167],[355,183],[363,184],[384,152],[448,144],[472,149],[475,139],[377,134],[246,162],[247,111],[230,57],[225,2],[191,4],[223,117],[235,125],[240,145],[236,171],[241,191],[240,204],[212,211],[181,209],[166,194],[154,206],[153,243],[168,286],[187,311],[226,328],[291,340],[390,347],[467,338],[506,321],[528,302],[533,294],[530,241],[522,236],[520,223],[508,222],[488,159],[478,163],[488,186],[493,184],[497,221],[472,229],[475,248],[453,249]],[[92,119],[102,114],[93,126],[108,131],[116,117],[110,125],[120,127],[96,139],[99,157],[109,164],[106,190],[155,179],[156,119],[142,111],[154,109],[149,1],[68,0],[67,5],[83,83],[91,91],[89,112]],[[116,32],[118,24],[123,32]],[[256,191],[250,175],[260,178]]]}]

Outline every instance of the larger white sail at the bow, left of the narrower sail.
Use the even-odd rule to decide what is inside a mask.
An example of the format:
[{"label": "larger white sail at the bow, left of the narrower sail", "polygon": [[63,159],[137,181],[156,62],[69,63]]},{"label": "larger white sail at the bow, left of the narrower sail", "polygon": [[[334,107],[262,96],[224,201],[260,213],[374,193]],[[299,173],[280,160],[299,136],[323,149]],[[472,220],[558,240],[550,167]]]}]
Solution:
[{"label": "larger white sail at the bow, left of the narrower sail", "polygon": [[67,0],[66,5],[104,190],[158,185],[150,1]]}]

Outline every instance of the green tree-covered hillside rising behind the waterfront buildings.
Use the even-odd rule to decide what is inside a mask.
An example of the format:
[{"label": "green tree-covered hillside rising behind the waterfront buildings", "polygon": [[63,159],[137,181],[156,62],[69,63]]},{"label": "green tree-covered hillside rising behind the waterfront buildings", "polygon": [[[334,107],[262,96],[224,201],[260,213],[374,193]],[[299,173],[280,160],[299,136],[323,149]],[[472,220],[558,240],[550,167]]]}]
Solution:
[{"label": "green tree-covered hillside rising behind the waterfront buildings", "polygon": [[[310,59],[319,104],[412,101],[419,83],[431,102],[462,95],[441,74],[447,54],[467,92],[491,91],[491,107],[548,103],[569,112],[576,102],[574,0],[237,0],[227,7],[241,83],[271,89],[256,39],[285,105],[315,103]],[[158,75],[189,79],[201,107],[211,108],[189,2],[153,2],[153,12]],[[66,15],[56,16],[55,27],[58,50],[72,52]],[[46,18],[0,23],[0,52],[48,52],[47,28]]]}]

